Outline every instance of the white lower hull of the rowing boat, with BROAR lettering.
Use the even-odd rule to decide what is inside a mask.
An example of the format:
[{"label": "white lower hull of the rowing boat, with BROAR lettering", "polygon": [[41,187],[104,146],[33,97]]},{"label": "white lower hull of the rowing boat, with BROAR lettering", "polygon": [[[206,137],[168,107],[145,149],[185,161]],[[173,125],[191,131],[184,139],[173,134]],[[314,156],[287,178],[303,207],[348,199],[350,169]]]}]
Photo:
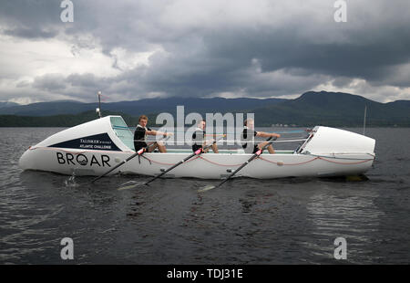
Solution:
[{"label": "white lower hull of the rowing boat, with BROAR lettering", "polygon": [[[39,170],[67,175],[99,176],[119,162],[127,159],[132,152],[95,152],[68,149],[39,149],[25,152],[20,160],[24,170]],[[145,153],[120,166],[114,173],[143,174],[154,176],[171,165],[189,156],[190,153]],[[200,157],[179,165],[164,177],[192,177],[201,179],[221,179],[246,162],[251,154],[204,153]],[[359,154],[343,154],[343,160],[334,156],[313,156],[307,154],[262,154],[261,158],[250,162],[236,176],[258,179],[340,176],[366,172],[374,157]]]}]

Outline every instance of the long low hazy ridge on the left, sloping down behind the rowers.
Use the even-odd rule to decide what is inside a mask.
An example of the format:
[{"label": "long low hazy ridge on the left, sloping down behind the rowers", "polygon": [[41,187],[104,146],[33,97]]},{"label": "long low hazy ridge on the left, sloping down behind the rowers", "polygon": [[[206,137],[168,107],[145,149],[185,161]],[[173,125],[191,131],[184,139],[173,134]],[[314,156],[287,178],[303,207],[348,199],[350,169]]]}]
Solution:
[{"label": "long low hazy ridge on the left, sloping down behind the rowers", "polygon": [[[275,104],[285,100],[282,99],[199,99],[199,98],[165,98],[145,99],[133,101],[120,101],[101,103],[101,110],[120,111],[128,115],[138,116],[142,113],[175,112],[177,105],[184,105],[186,112],[227,112],[263,107],[267,104]],[[19,116],[50,116],[60,114],[77,114],[87,110],[96,110],[96,103],[82,103],[77,101],[52,101],[39,102],[28,105],[19,105],[0,109],[0,115]]]}]

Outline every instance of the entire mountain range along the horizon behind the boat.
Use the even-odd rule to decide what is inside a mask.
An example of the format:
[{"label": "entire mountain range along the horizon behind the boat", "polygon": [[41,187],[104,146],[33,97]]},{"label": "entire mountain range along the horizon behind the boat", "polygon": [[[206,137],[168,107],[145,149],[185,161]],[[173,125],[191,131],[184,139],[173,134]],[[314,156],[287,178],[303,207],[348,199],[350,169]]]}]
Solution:
[{"label": "entire mountain range along the horizon behind the boat", "polygon": [[[101,108],[103,115],[110,113],[122,115],[129,126],[137,124],[140,114],[147,114],[149,124],[152,126],[159,112],[175,113],[177,105],[185,106],[185,115],[190,112],[199,112],[202,115],[205,112],[251,112],[255,114],[255,123],[259,127],[272,124],[302,127],[362,126],[364,107],[367,107],[367,126],[410,127],[410,100],[380,103],[358,95],[326,91],[308,91],[294,100],[168,98],[104,103]],[[74,126],[97,118],[96,107],[97,103],[66,101],[0,109],[0,114],[13,112],[19,115],[0,116],[0,127]],[[52,116],[51,113],[54,115]]]}]

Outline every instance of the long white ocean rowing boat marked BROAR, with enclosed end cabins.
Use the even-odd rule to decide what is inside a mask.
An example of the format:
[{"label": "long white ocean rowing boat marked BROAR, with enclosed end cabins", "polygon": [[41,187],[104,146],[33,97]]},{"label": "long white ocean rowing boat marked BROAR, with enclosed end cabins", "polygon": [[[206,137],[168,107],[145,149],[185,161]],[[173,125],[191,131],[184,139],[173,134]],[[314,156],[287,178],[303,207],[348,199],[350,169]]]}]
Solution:
[{"label": "long white ocean rowing boat marked BROAR, with enclosed end cabins", "polygon": [[[280,142],[280,141],[277,141]],[[316,126],[294,151],[262,153],[235,176],[270,179],[299,176],[341,176],[366,172],[374,162],[374,139],[351,131]],[[21,156],[23,170],[99,176],[133,155],[133,133],[120,116],[107,116],[77,125],[31,146]],[[114,173],[155,176],[192,153],[168,149],[146,152]],[[221,179],[246,162],[252,154],[239,150],[202,153],[179,165],[166,177]]]}]

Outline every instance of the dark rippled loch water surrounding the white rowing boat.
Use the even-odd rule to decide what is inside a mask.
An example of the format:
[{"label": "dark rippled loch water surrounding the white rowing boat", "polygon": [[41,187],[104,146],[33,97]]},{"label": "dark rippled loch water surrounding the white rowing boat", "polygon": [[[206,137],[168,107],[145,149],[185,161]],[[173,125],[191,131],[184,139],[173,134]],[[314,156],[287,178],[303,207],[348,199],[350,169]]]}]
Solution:
[{"label": "dark rippled loch water surrounding the white rowing boat", "polygon": [[[90,185],[91,177],[18,167],[28,146],[61,130],[0,128],[1,264],[410,262],[409,129],[366,129],[376,140],[366,181],[238,178],[203,193],[218,181],[160,179],[118,190],[149,177]],[[60,257],[65,237],[73,260]],[[347,259],[333,257],[338,237]]]}]

